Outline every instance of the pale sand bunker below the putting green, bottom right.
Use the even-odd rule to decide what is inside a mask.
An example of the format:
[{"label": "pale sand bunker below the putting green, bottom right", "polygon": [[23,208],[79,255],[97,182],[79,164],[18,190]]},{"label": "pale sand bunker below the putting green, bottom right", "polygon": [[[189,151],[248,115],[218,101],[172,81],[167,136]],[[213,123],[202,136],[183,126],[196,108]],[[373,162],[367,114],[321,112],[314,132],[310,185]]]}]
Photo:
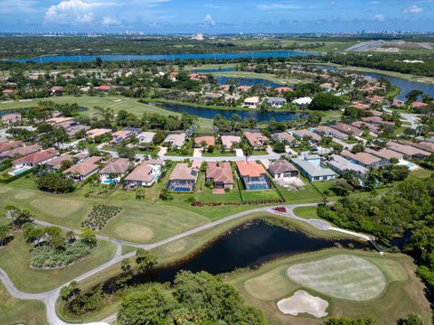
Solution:
[{"label": "pale sand bunker below the putting green, bottom right", "polygon": [[284,314],[297,316],[299,313],[308,313],[316,318],[327,316],[325,311],[328,302],[319,297],[315,297],[304,290],[298,290],[292,297],[278,301],[278,310]]}]

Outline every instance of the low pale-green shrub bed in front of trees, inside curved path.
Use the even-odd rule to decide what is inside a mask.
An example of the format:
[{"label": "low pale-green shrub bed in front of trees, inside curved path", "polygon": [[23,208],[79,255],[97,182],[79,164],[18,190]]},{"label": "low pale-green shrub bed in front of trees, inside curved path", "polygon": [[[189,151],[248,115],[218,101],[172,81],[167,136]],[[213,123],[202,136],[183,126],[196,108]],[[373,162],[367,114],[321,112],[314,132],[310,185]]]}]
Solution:
[{"label": "low pale-green shrub bed in front of trees, inside curved path", "polygon": [[35,246],[31,252],[30,265],[34,268],[64,267],[77,262],[90,253],[92,246],[77,240],[65,245],[64,249],[54,246]]}]

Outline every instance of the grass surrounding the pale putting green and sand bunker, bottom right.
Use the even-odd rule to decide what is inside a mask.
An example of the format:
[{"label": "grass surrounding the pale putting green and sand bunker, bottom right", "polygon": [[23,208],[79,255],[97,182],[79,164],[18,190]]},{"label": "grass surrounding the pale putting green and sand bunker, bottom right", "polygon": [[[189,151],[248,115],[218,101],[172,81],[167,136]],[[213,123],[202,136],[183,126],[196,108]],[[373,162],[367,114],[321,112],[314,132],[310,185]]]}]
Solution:
[{"label": "grass surrounding the pale putting green and sand bunker, bottom right", "polygon": [[[385,289],[371,301],[352,302],[307,288],[291,281],[288,277],[288,267],[316,263],[317,261],[324,261],[327,258],[335,258],[342,255],[355,256],[358,259],[366,261],[371,268],[378,268],[386,281]],[[341,265],[338,270],[342,272],[348,267],[351,268],[353,266]],[[328,249],[289,256],[267,265],[262,265],[258,270],[252,272],[234,274],[230,276],[229,282],[237,287],[247,303],[262,309],[273,324],[310,325],[318,323],[318,320],[307,314],[301,314],[296,317],[284,315],[278,311],[277,302],[283,298],[290,297],[297,290],[305,290],[313,296],[320,297],[329,302],[329,307],[326,311],[332,317],[344,315],[357,318],[370,315],[373,316],[378,324],[392,325],[396,324],[396,320],[406,316],[410,312],[418,312],[429,323],[431,317],[429,302],[422,294],[423,285],[420,283],[419,278],[415,276],[414,268],[415,265],[413,265],[410,257],[406,255],[379,256],[373,252]],[[316,271],[320,269],[316,269]],[[350,272],[351,270],[345,271]],[[348,276],[344,279],[335,274],[330,274],[329,279],[344,281],[348,280]],[[355,281],[355,278],[350,280]]]}]

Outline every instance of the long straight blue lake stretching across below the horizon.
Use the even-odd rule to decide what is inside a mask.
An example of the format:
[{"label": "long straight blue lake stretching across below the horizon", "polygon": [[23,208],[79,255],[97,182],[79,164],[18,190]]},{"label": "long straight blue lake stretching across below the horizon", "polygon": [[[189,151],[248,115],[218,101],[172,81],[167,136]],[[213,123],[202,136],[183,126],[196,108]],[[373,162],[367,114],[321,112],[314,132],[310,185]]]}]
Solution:
[{"label": "long straight blue lake stretching across below the horizon", "polygon": [[96,60],[201,60],[201,59],[241,59],[241,58],[288,58],[294,56],[318,55],[307,51],[241,51],[226,53],[184,53],[184,54],[101,54],[101,55],[53,55],[23,59],[8,59],[14,62],[33,61],[38,63],[47,62],[84,62]]}]

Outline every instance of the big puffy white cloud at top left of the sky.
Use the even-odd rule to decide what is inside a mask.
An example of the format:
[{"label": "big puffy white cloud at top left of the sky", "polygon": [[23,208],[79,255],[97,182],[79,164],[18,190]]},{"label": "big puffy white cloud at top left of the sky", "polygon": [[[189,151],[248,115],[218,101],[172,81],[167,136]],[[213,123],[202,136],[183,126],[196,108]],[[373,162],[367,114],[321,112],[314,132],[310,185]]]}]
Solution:
[{"label": "big puffy white cloud at top left of the sky", "polygon": [[91,23],[95,19],[95,10],[115,3],[87,2],[84,0],[63,0],[58,5],[50,6],[44,15],[45,23]]}]

